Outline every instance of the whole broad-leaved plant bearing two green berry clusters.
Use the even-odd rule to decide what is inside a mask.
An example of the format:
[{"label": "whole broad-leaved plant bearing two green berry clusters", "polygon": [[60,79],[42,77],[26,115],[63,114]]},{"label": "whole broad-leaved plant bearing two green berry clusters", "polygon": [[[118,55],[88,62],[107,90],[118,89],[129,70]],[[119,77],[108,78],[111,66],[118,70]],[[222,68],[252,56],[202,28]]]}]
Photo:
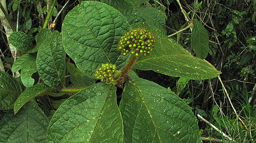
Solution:
[{"label": "whole broad-leaved plant bearing two green berry clusters", "polygon": [[35,46],[24,32],[10,36],[25,54],[12,65],[20,79],[0,72],[0,143],[201,142],[191,108],[136,70],[195,80],[220,72],[165,36],[161,21],[140,17],[150,13],[122,6],[135,7],[83,1]]}]

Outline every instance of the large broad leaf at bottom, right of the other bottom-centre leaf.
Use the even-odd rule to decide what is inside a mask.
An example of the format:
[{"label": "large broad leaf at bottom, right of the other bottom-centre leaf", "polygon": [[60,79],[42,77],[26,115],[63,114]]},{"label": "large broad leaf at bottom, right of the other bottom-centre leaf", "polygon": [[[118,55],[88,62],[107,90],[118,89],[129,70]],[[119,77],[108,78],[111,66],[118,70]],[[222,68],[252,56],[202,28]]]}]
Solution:
[{"label": "large broad leaf at bottom, right of the other bottom-centre leaf", "polygon": [[173,92],[140,78],[124,87],[120,111],[124,121],[124,143],[195,143],[197,120]]}]

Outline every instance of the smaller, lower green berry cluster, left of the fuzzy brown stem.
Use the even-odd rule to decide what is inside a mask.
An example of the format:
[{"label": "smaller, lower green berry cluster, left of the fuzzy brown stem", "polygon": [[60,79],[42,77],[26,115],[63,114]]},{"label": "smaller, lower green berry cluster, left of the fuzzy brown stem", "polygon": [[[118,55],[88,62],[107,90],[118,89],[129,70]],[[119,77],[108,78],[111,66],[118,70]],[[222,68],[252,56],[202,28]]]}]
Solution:
[{"label": "smaller, lower green berry cluster, left of the fuzzy brown stem", "polygon": [[106,83],[114,82],[121,74],[114,64],[102,64],[102,67],[98,68],[95,72],[96,78]]}]

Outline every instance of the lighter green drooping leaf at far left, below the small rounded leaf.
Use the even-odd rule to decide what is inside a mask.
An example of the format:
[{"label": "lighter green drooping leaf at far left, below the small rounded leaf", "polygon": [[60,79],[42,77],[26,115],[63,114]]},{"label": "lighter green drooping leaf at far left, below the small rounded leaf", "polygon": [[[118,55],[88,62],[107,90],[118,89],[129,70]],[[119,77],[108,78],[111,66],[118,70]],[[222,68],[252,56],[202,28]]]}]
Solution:
[{"label": "lighter green drooping leaf at far left, below the small rounded leaf", "polygon": [[11,67],[12,72],[21,70],[21,81],[25,87],[34,85],[34,79],[31,76],[37,72],[36,55],[23,54]]}]

